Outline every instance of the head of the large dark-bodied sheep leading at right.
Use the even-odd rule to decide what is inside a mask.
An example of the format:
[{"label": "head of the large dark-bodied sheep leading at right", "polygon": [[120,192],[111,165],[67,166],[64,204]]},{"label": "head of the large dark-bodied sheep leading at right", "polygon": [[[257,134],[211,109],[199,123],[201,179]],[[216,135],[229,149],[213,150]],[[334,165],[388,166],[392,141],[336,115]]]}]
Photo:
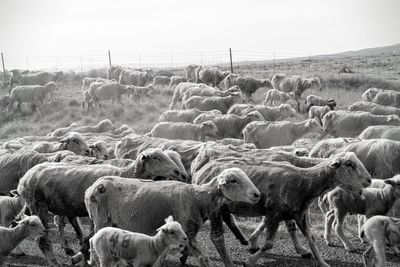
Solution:
[{"label": "head of the large dark-bodied sheep leading at right", "polygon": [[348,192],[361,193],[371,184],[371,175],[354,152],[342,152],[330,159],[330,168],[335,169],[334,179],[338,186]]}]

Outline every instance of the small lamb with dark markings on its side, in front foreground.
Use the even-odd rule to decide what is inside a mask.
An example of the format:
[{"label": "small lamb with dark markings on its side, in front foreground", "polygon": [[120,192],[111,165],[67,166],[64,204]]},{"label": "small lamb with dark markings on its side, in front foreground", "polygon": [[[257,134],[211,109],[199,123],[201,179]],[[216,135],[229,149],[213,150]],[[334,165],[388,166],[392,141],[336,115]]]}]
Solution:
[{"label": "small lamb with dark markings on its side, in front foreground", "polygon": [[155,263],[170,245],[186,242],[187,236],[181,224],[172,216],[165,219],[155,236],[105,227],[89,240],[89,264],[93,265],[94,254],[97,254],[100,267],[114,266],[120,260],[134,261],[137,266],[161,266]]}]

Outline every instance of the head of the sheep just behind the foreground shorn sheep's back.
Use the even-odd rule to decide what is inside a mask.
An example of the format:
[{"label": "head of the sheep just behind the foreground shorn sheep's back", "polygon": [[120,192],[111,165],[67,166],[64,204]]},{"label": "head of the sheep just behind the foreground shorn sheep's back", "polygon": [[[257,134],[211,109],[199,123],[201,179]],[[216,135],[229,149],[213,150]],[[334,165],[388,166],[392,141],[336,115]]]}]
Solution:
[{"label": "head of the sheep just behind the foreground shorn sheep's back", "polygon": [[142,153],[140,164],[153,180],[186,181],[179,166],[161,149],[148,149]]}]

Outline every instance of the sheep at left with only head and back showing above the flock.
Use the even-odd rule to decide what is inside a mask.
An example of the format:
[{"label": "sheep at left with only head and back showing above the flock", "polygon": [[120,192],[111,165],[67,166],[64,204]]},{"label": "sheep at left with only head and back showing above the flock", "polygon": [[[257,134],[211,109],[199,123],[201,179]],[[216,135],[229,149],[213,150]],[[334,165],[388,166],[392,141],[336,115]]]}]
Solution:
[{"label": "sheep at left with only head and back showing above the flock", "polygon": [[52,153],[61,150],[69,150],[77,155],[88,156],[90,154],[88,145],[77,132],[69,132],[67,136],[57,143],[46,141],[38,142],[33,145],[32,150],[39,153]]}]

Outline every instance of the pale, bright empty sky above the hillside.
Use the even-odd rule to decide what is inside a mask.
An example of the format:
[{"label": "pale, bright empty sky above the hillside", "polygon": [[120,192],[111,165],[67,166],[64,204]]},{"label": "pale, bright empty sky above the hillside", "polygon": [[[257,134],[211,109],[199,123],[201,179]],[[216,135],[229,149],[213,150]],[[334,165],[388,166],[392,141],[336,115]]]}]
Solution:
[{"label": "pale, bright empty sky above the hillside", "polygon": [[9,62],[108,49],[329,54],[400,43],[399,12],[398,0],[0,0],[0,50]]}]

